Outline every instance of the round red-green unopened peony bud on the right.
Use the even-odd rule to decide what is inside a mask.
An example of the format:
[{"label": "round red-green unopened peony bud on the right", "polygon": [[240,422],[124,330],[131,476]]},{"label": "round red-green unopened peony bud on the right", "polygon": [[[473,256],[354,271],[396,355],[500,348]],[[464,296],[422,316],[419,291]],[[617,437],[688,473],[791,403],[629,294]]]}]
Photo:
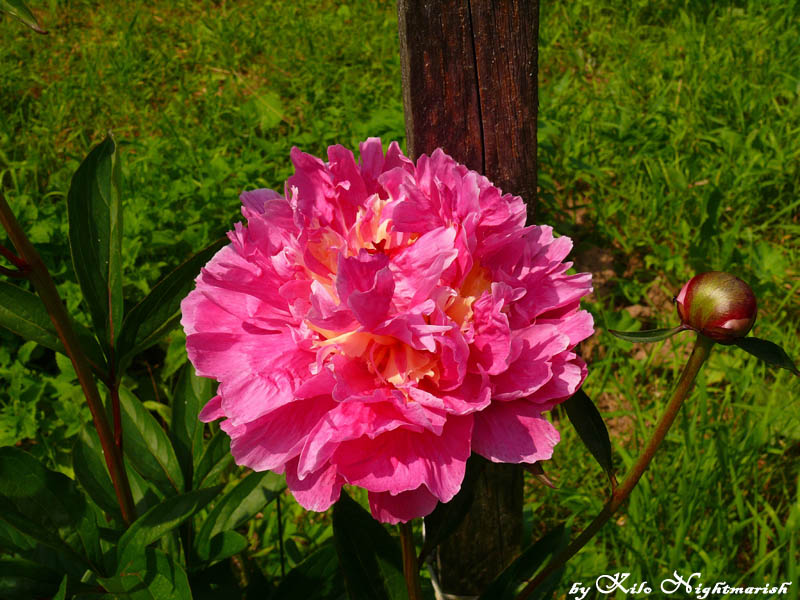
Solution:
[{"label": "round red-green unopened peony bud on the right", "polygon": [[676,298],[681,323],[720,344],[744,337],[756,320],[756,297],[744,281],[721,271],[692,277]]}]

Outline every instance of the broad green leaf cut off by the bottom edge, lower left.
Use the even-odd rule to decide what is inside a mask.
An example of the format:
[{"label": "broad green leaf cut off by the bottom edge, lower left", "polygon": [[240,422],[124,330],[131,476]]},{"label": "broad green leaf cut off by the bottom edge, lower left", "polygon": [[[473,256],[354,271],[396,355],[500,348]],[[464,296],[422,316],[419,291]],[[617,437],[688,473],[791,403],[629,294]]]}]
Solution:
[{"label": "broad green leaf cut off by the bottom edge, lower left", "polygon": [[119,600],[191,600],[192,591],[183,567],[156,548],[147,548],[119,575],[98,578]]}]

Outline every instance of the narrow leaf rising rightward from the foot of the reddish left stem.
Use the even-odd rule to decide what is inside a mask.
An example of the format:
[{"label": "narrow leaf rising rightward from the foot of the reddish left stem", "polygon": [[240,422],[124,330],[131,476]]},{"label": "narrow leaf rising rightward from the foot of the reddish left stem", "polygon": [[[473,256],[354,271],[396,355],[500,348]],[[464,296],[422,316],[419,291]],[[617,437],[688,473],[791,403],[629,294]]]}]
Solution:
[{"label": "narrow leaf rising rightward from the foot of the reddish left stem", "polygon": [[206,506],[222,486],[195,490],[169,498],[136,519],[117,544],[117,571],[128,568],[144,548],[172,531]]}]

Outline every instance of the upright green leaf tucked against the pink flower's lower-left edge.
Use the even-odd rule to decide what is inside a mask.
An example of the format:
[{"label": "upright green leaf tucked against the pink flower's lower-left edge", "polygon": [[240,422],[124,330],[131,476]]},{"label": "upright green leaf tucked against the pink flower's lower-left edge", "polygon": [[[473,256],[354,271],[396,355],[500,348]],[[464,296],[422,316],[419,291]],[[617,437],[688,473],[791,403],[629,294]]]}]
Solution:
[{"label": "upright green leaf tucked against the pink flower's lower-left edge", "polygon": [[175,455],[183,470],[183,478],[192,481],[194,463],[203,453],[204,424],[197,419],[200,410],[214,395],[214,382],[198,377],[187,363],[181,371],[172,395],[170,437]]}]

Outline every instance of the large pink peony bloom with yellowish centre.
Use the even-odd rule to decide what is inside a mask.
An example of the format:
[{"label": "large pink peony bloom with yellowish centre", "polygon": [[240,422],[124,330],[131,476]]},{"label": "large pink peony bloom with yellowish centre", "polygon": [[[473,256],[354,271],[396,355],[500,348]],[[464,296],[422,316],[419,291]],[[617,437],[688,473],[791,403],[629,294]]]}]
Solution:
[{"label": "large pink peony bloom with yellowish centre", "polygon": [[572,243],[525,227],[519,197],[441,150],[416,165],[371,138],[361,162],[291,153],[285,197],[244,192],[231,244],[181,305],[189,358],[219,381],[203,421],[224,419],[236,462],[286,474],[327,509],[343,484],[397,523],[460,489],[471,452],[550,458],[542,412],[581,385],[572,351],[589,274]]}]

